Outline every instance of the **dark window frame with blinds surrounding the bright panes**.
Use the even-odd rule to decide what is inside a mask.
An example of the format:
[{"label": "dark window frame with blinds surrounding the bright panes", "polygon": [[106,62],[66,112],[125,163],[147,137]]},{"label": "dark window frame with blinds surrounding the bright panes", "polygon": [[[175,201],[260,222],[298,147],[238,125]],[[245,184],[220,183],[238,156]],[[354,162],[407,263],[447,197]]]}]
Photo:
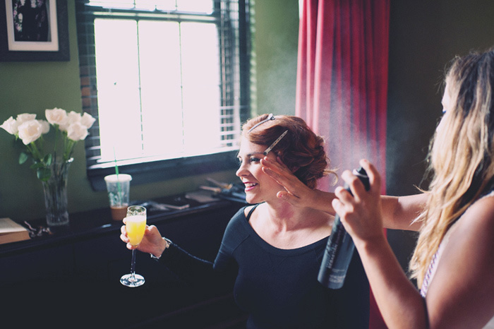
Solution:
[{"label": "dark window frame with blinds surrounding the bright panes", "polygon": [[[107,9],[93,6],[86,6],[87,0],[76,0],[76,20],[78,31],[78,44],[79,44],[79,61],[80,61],[80,88],[83,103],[83,111],[88,112],[95,118],[98,117],[97,107],[97,80],[96,80],[96,66],[95,66],[95,37],[94,37],[94,19],[101,18],[99,13],[102,11],[108,11]],[[251,27],[250,16],[251,6],[249,0],[214,0],[215,11],[212,13],[212,19],[219,19],[221,16],[221,7],[224,4],[238,4],[238,20],[236,27],[232,27],[232,33],[237,33],[238,37],[236,52],[238,52],[238,76],[236,81],[228,82],[237,83],[239,87],[235,90],[230,98],[227,98],[227,104],[223,103],[218,110],[223,112],[231,109],[239,112],[240,122],[246,121],[251,113]],[[90,8],[88,8],[90,7]],[[90,9],[90,10],[88,10]],[[126,11],[112,9],[112,13],[116,13],[116,16],[120,14],[126,15]],[[142,14],[146,13],[143,11]],[[193,15],[183,16],[183,19],[193,20]],[[237,30],[234,30],[237,29]],[[220,38],[221,39],[221,38]],[[222,40],[219,40],[222,42]],[[223,54],[224,52],[219,52]],[[224,61],[221,61],[224,63]],[[230,68],[223,66],[222,70],[222,84],[224,71],[228,71]],[[224,88],[231,92],[231,88]],[[222,98],[225,98],[222,95]],[[233,102],[235,103],[228,103]],[[224,100],[222,100],[223,102]],[[240,127],[239,127],[240,128]],[[104,177],[108,174],[114,174],[115,168],[95,165],[95,157],[98,155],[100,148],[100,131],[97,122],[90,129],[90,136],[85,139],[85,152],[86,152],[86,172],[90,181],[90,185],[94,191],[104,191],[106,185],[104,183]],[[216,153],[207,155],[196,155],[191,157],[179,157],[169,160],[155,160],[135,164],[119,164],[119,172],[131,174],[133,184],[149,184],[156,181],[167,181],[169,179],[177,179],[181,177],[190,177],[198,174],[207,174],[210,172],[220,172],[225,170],[233,170],[237,167],[236,153],[238,150],[222,150]]]}]

